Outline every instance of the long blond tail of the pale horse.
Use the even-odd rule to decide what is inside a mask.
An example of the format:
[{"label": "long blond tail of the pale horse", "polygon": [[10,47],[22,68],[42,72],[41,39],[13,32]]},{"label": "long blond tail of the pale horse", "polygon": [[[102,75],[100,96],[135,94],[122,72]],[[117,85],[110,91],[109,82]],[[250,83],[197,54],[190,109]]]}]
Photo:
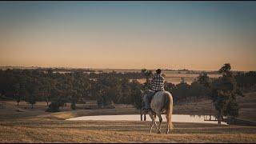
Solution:
[{"label": "long blond tail of the pale horse", "polygon": [[173,108],[174,108],[173,97],[171,94],[168,94],[166,99],[166,121],[168,122],[170,129],[173,129],[173,122],[172,122],[172,115],[173,115]]}]

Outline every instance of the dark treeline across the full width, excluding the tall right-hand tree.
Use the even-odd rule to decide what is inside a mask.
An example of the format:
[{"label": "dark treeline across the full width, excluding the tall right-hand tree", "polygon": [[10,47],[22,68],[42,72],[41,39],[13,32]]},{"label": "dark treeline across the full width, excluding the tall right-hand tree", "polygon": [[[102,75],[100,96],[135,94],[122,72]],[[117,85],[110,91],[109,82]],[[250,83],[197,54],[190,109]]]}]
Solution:
[{"label": "dark treeline across the full width, excluding the tall right-hand tree", "polygon": [[[71,70],[70,73],[55,73],[53,69],[0,70],[0,96],[30,103],[31,108],[38,101],[46,101],[49,111],[58,111],[59,106],[70,102],[76,108],[77,102],[97,100],[98,106],[108,106],[112,102],[142,106],[142,89],[148,89],[150,73],[126,72],[95,73],[87,70]],[[146,78],[144,84],[135,79]],[[237,73],[234,78],[242,90],[255,90],[256,72]],[[131,79],[134,79],[131,81]],[[166,82],[165,89],[173,94],[174,102],[196,101],[210,98],[212,85],[220,78],[210,79],[202,73],[188,85],[182,81],[178,85]],[[175,104],[175,103],[174,103]]]}]

